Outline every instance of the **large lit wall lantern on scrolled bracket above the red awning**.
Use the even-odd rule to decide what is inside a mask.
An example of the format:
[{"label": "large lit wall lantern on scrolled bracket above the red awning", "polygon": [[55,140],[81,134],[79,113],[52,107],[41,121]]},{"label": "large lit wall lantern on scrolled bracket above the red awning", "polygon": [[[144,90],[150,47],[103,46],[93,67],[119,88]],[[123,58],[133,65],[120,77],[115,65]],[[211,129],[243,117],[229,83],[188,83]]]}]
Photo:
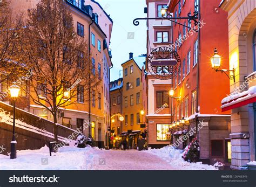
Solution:
[{"label": "large lit wall lantern on scrolled bracket above the red awning", "polygon": [[[219,56],[216,48],[214,49],[214,55],[211,58],[211,63],[212,63],[212,68],[215,70],[215,72],[225,73],[230,80],[233,79],[235,82],[235,74],[234,74],[235,68],[233,68],[232,70],[225,70],[225,69],[219,70],[220,64],[221,64],[221,57]],[[228,75],[226,72],[233,72],[233,74]]]}]

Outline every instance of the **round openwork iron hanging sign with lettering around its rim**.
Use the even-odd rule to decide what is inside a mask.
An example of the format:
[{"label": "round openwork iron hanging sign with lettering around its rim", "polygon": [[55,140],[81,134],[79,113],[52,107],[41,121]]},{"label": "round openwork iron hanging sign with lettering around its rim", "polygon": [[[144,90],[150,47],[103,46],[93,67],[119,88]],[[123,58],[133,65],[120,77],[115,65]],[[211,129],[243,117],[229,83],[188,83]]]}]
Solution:
[{"label": "round openwork iron hanging sign with lettering around its rim", "polygon": [[158,47],[149,54],[147,67],[156,79],[172,79],[180,71],[179,54],[171,47]]}]

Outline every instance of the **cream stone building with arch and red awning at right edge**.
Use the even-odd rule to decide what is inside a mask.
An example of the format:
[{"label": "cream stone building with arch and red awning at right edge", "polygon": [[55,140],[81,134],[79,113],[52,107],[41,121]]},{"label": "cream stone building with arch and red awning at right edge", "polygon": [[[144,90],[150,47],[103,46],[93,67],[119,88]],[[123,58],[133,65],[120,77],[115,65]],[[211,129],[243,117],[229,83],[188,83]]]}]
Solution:
[{"label": "cream stone building with arch and red awning at right edge", "polygon": [[[223,0],[220,9],[227,12],[230,64],[235,79],[230,94],[222,101],[222,110],[231,111],[232,169],[245,169],[255,161],[256,120],[256,2]],[[233,74],[233,72],[231,72]]]}]

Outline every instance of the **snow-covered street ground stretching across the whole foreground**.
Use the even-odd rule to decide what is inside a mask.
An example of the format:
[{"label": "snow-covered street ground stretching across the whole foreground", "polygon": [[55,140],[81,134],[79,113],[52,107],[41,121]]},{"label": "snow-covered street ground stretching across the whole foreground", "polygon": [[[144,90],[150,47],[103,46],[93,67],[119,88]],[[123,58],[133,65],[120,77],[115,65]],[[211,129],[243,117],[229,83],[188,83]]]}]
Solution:
[{"label": "snow-covered street ground stretching across the whole foreground", "polygon": [[180,150],[104,150],[63,147],[49,156],[49,148],[17,151],[17,159],[0,155],[0,170],[214,170],[212,165],[188,163]]}]

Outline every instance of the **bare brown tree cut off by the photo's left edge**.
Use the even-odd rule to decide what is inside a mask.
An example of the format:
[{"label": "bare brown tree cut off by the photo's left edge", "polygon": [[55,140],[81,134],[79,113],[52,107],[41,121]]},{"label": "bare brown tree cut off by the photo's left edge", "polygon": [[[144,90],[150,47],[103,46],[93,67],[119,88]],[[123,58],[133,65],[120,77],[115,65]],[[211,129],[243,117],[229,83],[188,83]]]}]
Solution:
[{"label": "bare brown tree cut off by the photo's left edge", "polygon": [[0,2],[0,71],[4,78],[15,79],[19,74],[24,73],[19,63],[17,53],[19,51],[17,38],[22,29],[22,15],[12,17],[9,2]]}]

